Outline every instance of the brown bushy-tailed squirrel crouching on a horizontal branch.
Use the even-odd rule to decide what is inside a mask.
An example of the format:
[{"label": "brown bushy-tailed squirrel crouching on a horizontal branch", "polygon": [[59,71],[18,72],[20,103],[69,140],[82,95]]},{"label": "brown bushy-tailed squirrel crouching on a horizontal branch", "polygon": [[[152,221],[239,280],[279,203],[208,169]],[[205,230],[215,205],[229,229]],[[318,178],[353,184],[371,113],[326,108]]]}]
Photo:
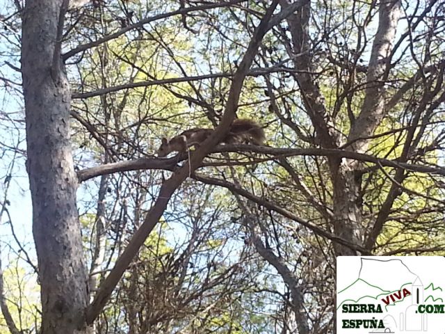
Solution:
[{"label": "brown bushy-tailed squirrel crouching on a horizontal branch", "polygon": [[[197,148],[213,134],[213,131],[215,130],[196,127],[181,132],[181,134],[171,138],[170,141],[163,137],[158,149],[158,157],[165,157],[173,151],[186,152],[192,146]],[[232,122],[229,132],[220,143],[263,145],[265,139],[264,130],[257,122],[248,118],[237,118]]]}]

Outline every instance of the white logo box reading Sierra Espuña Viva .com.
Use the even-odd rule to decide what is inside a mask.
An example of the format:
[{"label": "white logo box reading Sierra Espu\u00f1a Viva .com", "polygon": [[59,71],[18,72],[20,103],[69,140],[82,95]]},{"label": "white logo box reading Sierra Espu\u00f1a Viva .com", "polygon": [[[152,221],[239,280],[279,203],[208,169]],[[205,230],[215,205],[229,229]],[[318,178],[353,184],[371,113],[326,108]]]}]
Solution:
[{"label": "white logo box reading Sierra Espu\u00f1a Viva .com", "polygon": [[337,334],[445,334],[445,257],[337,257]]}]

